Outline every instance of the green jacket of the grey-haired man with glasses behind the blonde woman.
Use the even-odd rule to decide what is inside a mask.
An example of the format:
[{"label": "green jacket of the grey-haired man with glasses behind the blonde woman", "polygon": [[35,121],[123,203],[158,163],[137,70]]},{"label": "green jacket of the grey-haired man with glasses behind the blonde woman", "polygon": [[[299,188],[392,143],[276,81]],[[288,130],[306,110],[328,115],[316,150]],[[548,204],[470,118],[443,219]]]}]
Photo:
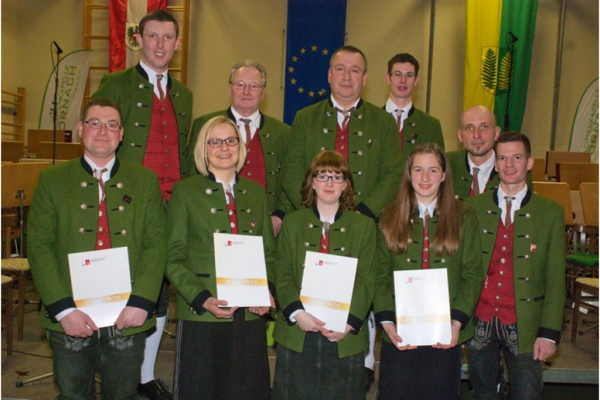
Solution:
[{"label": "green jacket of the grey-haired man with glasses behind the blonde woman", "polygon": [[[194,121],[192,127],[192,134],[190,135],[189,144],[189,166],[190,176],[196,175],[198,170],[196,169],[196,162],[194,161],[194,148],[198,141],[198,134],[204,126],[204,124],[211,118],[217,115],[227,116],[233,122],[235,117],[231,112],[231,108],[226,110],[217,111],[211,114],[203,115]],[[267,177],[267,208],[270,213],[277,215],[281,219],[286,213],[292,211],[294,208],[287,196],[283,193],[282,179],[283,174],[281,173],[281,167],[285,160],[285,152],[287,144],[290,139],[290,127],[281,121],[271,118],[263,113],[260,113],[260,143],[263,148],[263,156],[265,159],[265,169]]]}]

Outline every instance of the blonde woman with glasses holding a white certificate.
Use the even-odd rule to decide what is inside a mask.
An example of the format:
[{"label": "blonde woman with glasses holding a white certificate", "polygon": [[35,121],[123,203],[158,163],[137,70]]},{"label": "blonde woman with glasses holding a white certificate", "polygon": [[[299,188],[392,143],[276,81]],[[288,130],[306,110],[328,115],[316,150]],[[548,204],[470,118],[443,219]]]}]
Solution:
[{"label": "blonde woman with glasses holding a white certificate", "polygon": [[217,298],[213,239],[215,232],[262,236],[273,291],[275,241],[265,192],[238,176],[246,147],[225,116],[203,126],[194,158],[200,174],[175,184],[167,219],[166,274],[177,289],[179,320],[173,395],[268,399],[269,307],[227,307]]}]

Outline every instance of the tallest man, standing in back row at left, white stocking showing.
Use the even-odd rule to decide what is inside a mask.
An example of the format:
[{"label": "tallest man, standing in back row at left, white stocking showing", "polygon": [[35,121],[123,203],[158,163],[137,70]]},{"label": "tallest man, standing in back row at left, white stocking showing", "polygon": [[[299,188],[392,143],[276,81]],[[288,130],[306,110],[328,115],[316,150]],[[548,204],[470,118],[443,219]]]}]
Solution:
[{"label": "tallest man, standing in back row at left, white stocking showing", "polygon": [[[181,42],[179,24],[170,13],[153,11],[140,20],[136,40],[142,48],[140,63],[104,76],[94,97],[112,99],[121,108],[125,132],[119,158],[156,172],[166,208],[175,182],[189,175],[192,93],[168,70]],[[163,383],[154,379],[169,304],[166,280],[158,303],[157,330],[146,342],[140,382],[140,395],[156,400],[171,398]]]}]

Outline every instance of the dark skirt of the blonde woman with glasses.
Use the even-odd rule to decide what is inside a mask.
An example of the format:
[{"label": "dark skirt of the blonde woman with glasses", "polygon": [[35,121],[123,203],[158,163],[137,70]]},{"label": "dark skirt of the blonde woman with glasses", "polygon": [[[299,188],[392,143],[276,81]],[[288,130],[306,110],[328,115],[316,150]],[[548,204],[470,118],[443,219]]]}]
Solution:
[{"label": "dark skirt of the blonde woman with glasses", "polygon": [[264,318],[233,322],[179,321],[173,395],[181,400],[270,398]]}]

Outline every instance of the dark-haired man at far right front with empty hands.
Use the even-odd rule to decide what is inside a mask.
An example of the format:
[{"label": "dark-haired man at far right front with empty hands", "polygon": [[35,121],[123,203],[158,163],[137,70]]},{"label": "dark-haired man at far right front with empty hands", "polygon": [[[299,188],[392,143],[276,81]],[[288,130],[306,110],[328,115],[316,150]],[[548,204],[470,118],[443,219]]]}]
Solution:
[{"label": "dark-haired man at far right front with empty hands", "polygon": [[474,399],[495,399],[500,350],[511,396],[539,399],[542,361],[556,351],[565,304],[564,212],[527,186],[533,167],[529,139],[500,135],[497,189],[468,199],[481,228],[486,280],[467,346]]}]

